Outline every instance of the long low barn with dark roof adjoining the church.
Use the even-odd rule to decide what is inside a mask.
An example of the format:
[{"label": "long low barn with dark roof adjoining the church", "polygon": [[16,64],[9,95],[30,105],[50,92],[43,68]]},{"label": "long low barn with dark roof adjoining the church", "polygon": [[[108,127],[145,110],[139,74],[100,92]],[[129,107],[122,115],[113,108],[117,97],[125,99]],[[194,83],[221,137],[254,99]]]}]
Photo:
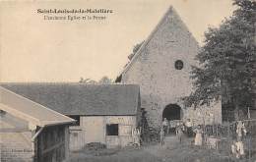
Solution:
[{"label": "long low barn with dark roof adjoining the church", "polygon": [[70,149],[100,142],[107,147],[133,142],[140,120],[140,88],[133,84],[3,83],[2,86],[77,122],[70,127]]}]

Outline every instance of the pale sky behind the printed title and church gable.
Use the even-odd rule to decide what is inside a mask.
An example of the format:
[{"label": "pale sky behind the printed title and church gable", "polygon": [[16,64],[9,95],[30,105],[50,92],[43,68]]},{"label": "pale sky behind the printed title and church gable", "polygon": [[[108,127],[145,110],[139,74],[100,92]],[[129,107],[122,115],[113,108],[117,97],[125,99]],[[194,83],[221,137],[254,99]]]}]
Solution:
[{"label": "pale sky behind the printed title and church gable", "polygon": [[[171,5],[203,44],[208,27],[233,11],[231,0],[0,1],[0,81],[115,79],[133,46],[149,36]],[[38,14],[37,9],[109,9],[111,14]],[[44,16],[105,16],[44,20]]]}]

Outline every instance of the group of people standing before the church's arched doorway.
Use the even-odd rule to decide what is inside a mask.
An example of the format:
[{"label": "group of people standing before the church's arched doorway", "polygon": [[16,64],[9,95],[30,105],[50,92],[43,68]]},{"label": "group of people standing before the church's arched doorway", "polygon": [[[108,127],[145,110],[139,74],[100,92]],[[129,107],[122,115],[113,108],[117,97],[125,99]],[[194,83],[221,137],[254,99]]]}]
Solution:
[{"label": "group of people standing before the church's arched doorway", "polygon": [[181,143],[184,135],[187,137],[195,136],[195,145],[202,145],[203,143],[203,130],[200,126],[193,129],[193,124],[188,119],[186,122],[182,121],[168,121],[166,118],[163,119],[160,128],[160,144],[164,144],[165,135],[174,133],[177,136],[178,141]]}]

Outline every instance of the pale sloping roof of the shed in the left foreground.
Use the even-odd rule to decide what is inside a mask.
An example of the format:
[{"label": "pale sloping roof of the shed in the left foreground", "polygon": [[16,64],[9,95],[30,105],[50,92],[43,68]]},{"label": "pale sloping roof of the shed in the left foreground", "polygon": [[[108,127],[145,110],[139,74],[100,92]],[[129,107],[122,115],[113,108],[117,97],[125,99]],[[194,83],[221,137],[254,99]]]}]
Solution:
[{"label": "pale sloping roof of the shed in the left foreground", "polygon": [[74,122],[73,119],[35,103],[2,86],[0,86],[0,109],[18,118],[32,122],[32,124],[39,127]]}]

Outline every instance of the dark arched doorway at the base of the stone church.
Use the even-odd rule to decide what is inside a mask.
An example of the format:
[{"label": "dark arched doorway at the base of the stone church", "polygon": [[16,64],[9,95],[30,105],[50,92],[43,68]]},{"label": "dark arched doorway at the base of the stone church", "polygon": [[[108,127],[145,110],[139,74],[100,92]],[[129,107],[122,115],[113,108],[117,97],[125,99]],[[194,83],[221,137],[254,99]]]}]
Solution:
[{"label": "dark arched doorway at the base of the stone church", "polygon": [[168,121],[181,119],[181,108],[177,104],[169,104],[162,111],[162,120],[166,118]]}]

